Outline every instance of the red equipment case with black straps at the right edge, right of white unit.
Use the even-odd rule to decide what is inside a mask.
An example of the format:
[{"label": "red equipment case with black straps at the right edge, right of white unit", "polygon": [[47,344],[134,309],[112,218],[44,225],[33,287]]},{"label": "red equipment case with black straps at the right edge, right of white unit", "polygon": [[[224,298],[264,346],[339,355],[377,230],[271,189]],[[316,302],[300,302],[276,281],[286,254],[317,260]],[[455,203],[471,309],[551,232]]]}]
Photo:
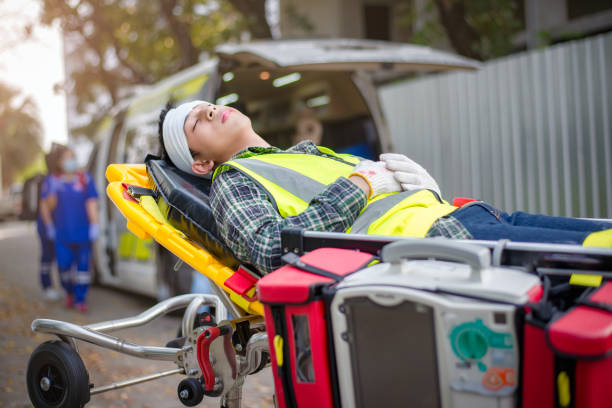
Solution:
[{"label": "red equipment case with black straps at the right edge, right of white unit", "polygon": [[612,407],[612,282],[548,324],[527,319],[523,408]]}]

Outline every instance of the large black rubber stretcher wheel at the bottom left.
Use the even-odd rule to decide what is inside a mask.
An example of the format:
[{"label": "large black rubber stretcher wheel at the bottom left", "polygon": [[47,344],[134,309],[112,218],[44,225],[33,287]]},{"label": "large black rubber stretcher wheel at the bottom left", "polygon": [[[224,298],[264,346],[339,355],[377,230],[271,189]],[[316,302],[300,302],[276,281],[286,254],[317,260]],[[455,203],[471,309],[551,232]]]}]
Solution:
[{"label": "large black rubber stretcher wheel at the bottom left", "polygon": [[47,341],[34,350],[26,383],[35,408],[81,408],[89,402],[85,365],[63,341]]}]

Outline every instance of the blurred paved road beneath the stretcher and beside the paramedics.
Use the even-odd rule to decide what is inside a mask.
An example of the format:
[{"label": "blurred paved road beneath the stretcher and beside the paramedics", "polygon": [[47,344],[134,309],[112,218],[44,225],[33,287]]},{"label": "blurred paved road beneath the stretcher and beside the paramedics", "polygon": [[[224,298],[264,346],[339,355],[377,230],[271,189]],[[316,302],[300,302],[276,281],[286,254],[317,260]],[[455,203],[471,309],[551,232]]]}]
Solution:
[{"label": "blurred paved road beneath the stretcher and beside the paramedics", "polygon": [[[62,302],[46,302],[38,284],[39,244],[32,223],[0,224],[0,408],[31,407],[25,385],[30,353],[52,336],[33,333],[30,323],[39,317],[88,324],[133,316],[151,307],[152,299],[114,289],[93,287],[89,312],[66,309]],[[176,334],[178,316],[166,316],[148,326],[116,332],[116,336],[144,345],[164,345]],[[79,342],[79,353],[96,386],[125,378],[175,368]],[[92,396],[89,408],[182,407],[176,397],[180,376],[135,385]],[[244,407],[272,407],[270,368],[246,380]],[[217,407],[218,400],[205,398],[201,407]]]}]

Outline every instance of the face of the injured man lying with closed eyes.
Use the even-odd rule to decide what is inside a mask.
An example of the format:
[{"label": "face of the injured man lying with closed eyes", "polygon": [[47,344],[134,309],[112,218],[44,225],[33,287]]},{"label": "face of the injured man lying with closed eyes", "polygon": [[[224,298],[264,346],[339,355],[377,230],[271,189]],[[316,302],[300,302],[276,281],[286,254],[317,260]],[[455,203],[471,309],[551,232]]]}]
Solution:
[{"label": "face of the injured man lying with closed eyes", "polygon": [[251,127],[251,120],[229,106],[202,103],[187,115],[184,131],[189,149],[196,160],[228,161],[237,153],[241,135]]}]

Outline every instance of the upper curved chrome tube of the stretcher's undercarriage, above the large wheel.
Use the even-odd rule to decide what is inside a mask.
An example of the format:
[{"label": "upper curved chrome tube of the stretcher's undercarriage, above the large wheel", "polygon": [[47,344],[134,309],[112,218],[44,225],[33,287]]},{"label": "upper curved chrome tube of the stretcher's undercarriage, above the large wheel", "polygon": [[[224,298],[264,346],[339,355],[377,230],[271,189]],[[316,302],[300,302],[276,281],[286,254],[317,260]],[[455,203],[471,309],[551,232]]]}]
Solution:
[{"label": "upper curved chrome tube of the stretcher's undercarriage, above the large wheel", "polygon": [[[171,297],[170,299],[166,299],[156,304],[155,306],[151,307],[150,309],[145,310],[138,316],[126,317],[124,319],[118,319],[118,320],[109,320],[109,321],[100,322],[100,323],[94,323],[94,324],[85,326],[85,328],[89,330],[97,331],[97,332],[111,332],[111,331],[126,329],[130,327],[143,326],[159,316],[163,316],[174,310],[178,310],[178,309],[187,307],[187,305],[191,303],[193,299],[199,296],[211,297],[211,295],[200,295],[196,293],[175,296],[175,297]],[[211,299],[211,302],[212,302],[211,304],[215,304],[215,305],[217,303],[220,303],[219,300],[215,301],[212,299]]]}]

